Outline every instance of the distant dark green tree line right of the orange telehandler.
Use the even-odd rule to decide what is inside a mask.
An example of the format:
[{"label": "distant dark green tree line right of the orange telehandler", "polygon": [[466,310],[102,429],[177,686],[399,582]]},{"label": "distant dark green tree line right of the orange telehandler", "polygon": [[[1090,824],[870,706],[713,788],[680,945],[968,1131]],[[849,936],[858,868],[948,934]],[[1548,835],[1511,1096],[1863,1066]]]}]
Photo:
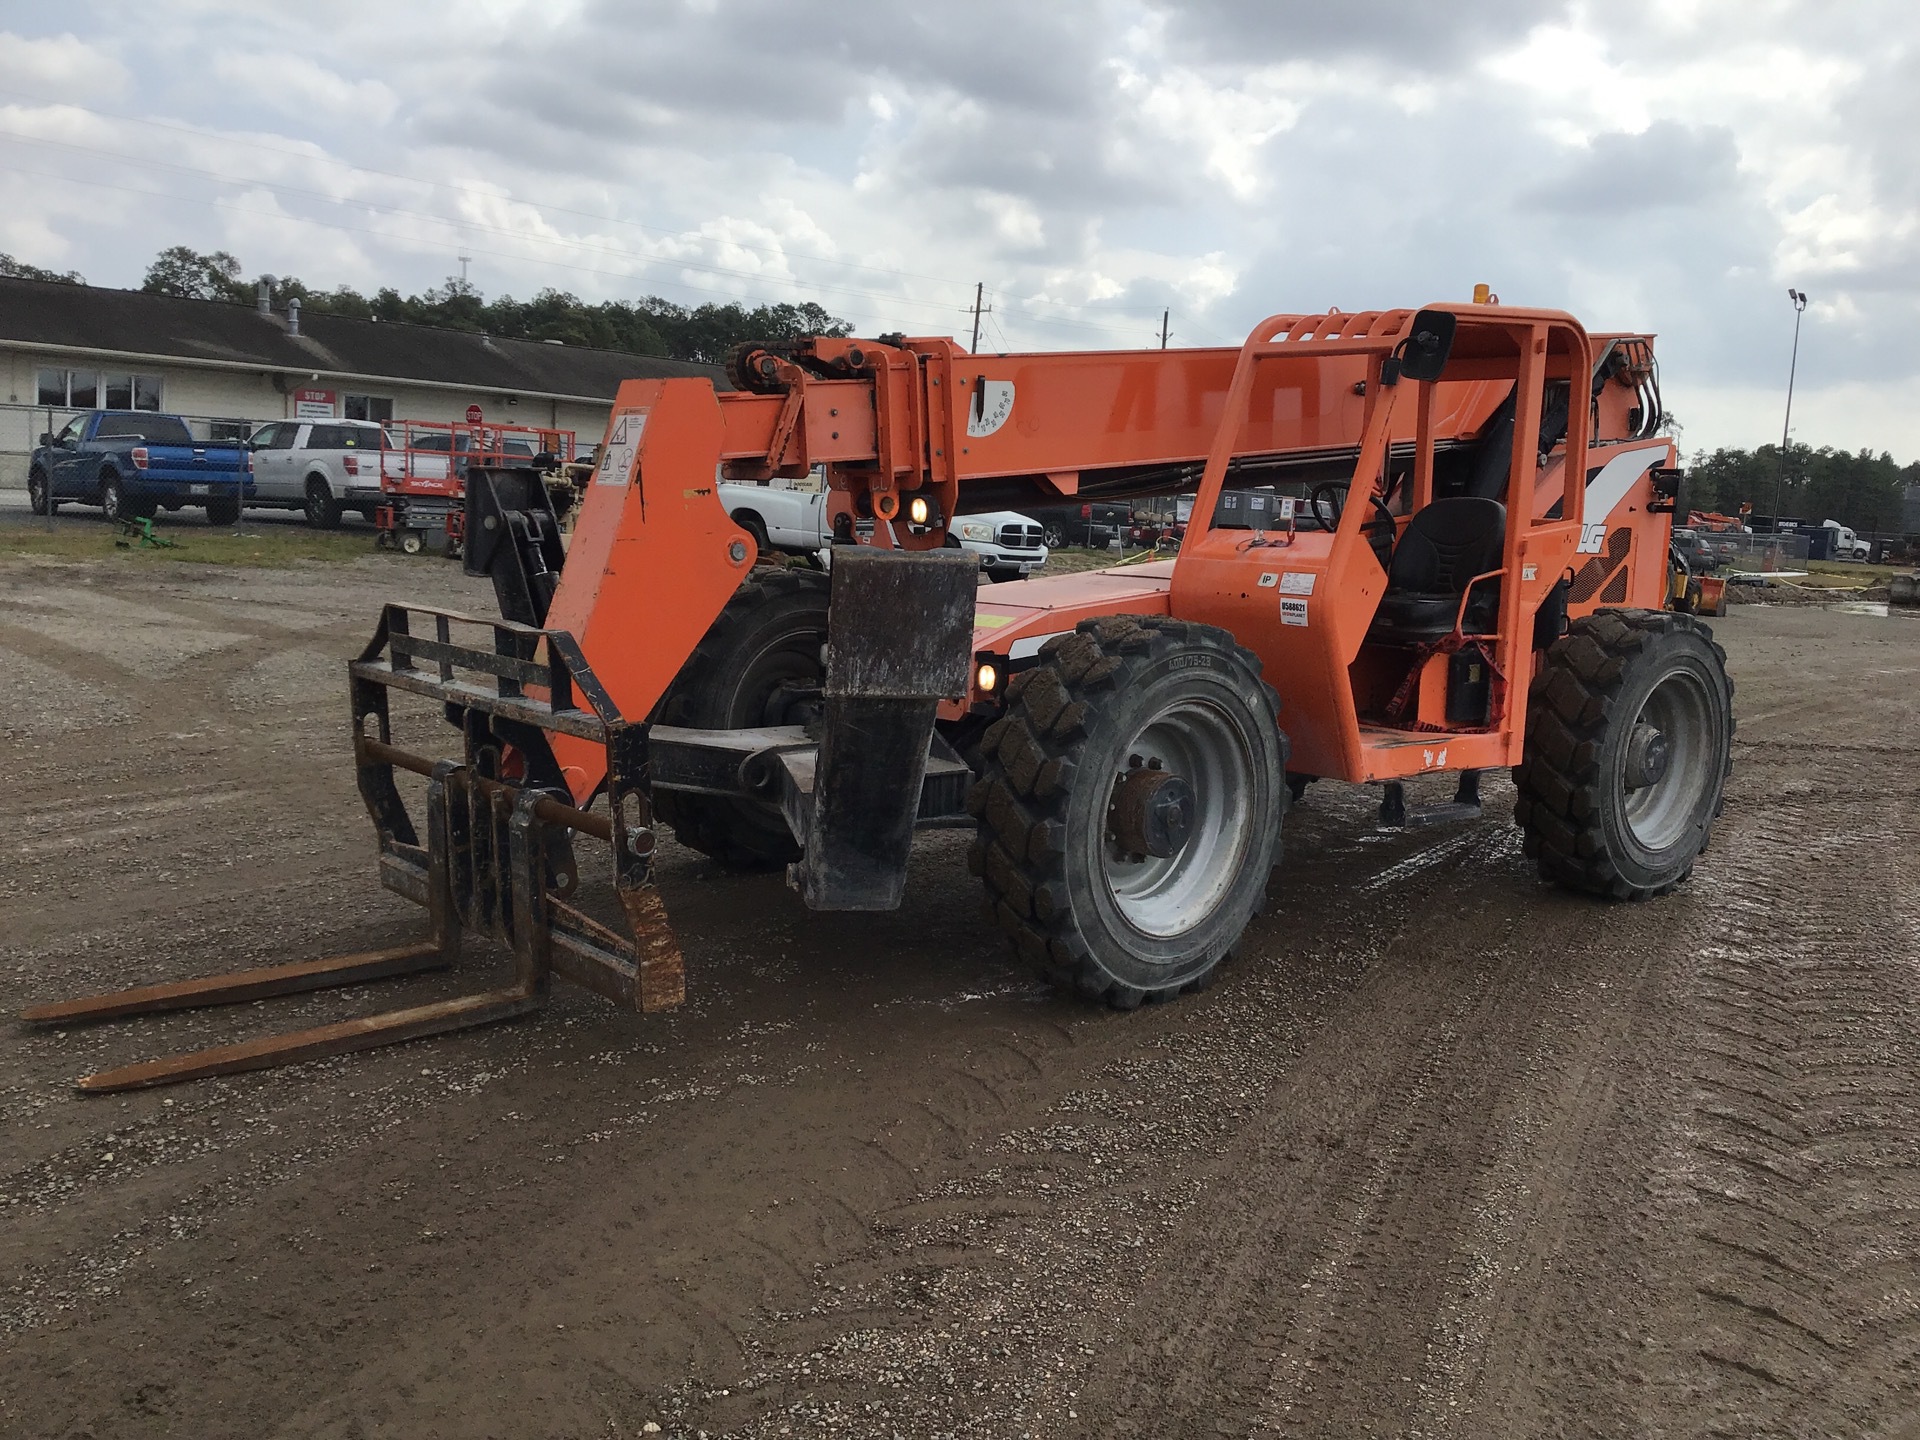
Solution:
[{"label": "distant dark green tree line right of the orange telehandler", "polygon": [[1920,484],[1920,461],[1895,465],[1887,451],[1797,442],[1788,445],[1786,465],[1780,445],[1701,451],[1688,465],[1688,503],[1695,511],[1738,515],[1751,505],[1755,515],[1839,520],[1866,534],[1901,532],[1901,503],[1912,484]]}]

